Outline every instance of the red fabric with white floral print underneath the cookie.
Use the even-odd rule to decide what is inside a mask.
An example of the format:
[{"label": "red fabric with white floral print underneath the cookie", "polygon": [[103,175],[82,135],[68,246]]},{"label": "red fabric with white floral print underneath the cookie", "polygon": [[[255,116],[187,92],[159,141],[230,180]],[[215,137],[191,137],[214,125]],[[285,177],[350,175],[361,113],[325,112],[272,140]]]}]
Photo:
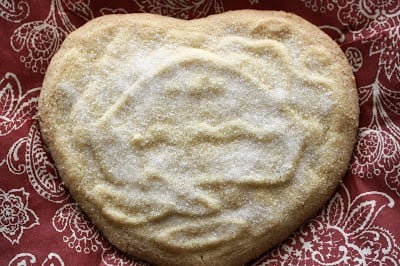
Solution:
[{"label": "red fabric with white floral print underneath the cookie", "polygon": [[254,265],[400,265],[398,0],[0,0],[0,265],[143,265],[108,244],[73,202],[43,146],[37,102],[67,34],[111,13],[197,18],[294,12],[353,66],[360,127],[349,171],[315,217]]}]

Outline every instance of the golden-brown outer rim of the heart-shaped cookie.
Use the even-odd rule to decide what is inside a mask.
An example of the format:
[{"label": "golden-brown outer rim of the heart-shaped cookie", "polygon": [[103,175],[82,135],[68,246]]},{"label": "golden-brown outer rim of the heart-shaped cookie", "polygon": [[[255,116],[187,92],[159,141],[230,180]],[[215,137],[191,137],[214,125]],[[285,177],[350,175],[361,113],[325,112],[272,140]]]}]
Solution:
[{"label": "golden-brown outer rim of the heart-shaped cookie", "polygon": [[[164,250],[152,247],[146,242],[146,239],[132,239],[132,231],[129,228],[120,226],[114,227],[109,221],[102,219],[97,208],[91,205],[90,199],[87,199],[83,190],[87,184],[82,184],[85,170],[79,165],[80,158],[70,158],[68,154],[75,148],[68,142],[60,141],[59,132],[55,125],[63,119],[63,114],[68,112],[68,106],[65,106],[63,95],[56,90],[61,73],[71,71],[69,63],[74,64],[69,57],[70,49],[76,49],[75,46],[86,43],[88,36],[93,36],[96,31],[107,30],[110,27],[134,27],[138,25],[159,25],[164,28],[174,28],[179,22],[182,27],[190,25],[192,30],[204,31],[208,27],[230,27],[227,25],[246,25],[257,19],[285,19],[298,31],[304,45],[321,44],[326,47],[326,51],[332,53],[337,58],[336,81],[338,88],[347,91],[340,91],[337,95],[337,112],[335,121],[330,125],[332,131],[332,143],[328,147],[346,147],[341,150],[339,156],[332,165],[323,165],[324,157],[320,157],[321,167],[320,183],[318,193],[310,195],[304,200],[303,209],[290,216],[291,221],[271,225],[271,234],[265,235],[259,239],[253,239],[251,242],[243,241],[236,247],[221,247],[219,250],[210,251],[207,254],[178,254],[171,255]],[[207,30],[207,29],[206,29]],[[273,33],[273,34],[279,34]],[[305,37],[304,37],[305,36]],[[61,110],[60,110],[61,109]],[[64,110],[63,110],[64,109]],[[79,203],[82,209],[93,220],[94,224],[104,233],[120,250],[131,255],[151,261],[157,265],[242,265],[249,259],[260,255],[263,251],[270,249],[280,241],[283,241],[290,233],[303,224],[307,218],[314,215],[323,204],[331,197],[342,176],[347,170],[347,165],[352,154],[352,147],[355,142],[355,135],[358,126],[358,98],[352,70],[338,45],[333,42],[326,34],[320,31],[316,26],[308,23],[304,19],[280,11],[255,11],[241,10],[226,12],[219,15],[213,15],[208,18],[193,20],[189,22],[178,21],[173,18],[161,17],[152,14],[128,14],[128,15],[109,15],[94,19],[75,32],[71,33],[65,40],[60,51],[54,56],[47,70],[43,83],[42,93],[39,101],[39,119],[43,139],[49,148],[49,151],[56,163],[59,174],[65,185],[69,189],[73,198]],[[65,129],[68,132],[68,129]],[[340,134],[339,137],[336,134]],[[71,153],[73,154],[73,153]],[[324,155],[324,153],[321,153]],[[324,186],[320,186],[323,183]],[[114,227],[110,229],[111,227]],[[141,246],[135,244],[141,243]],[[248,248],[248,246],[252,248]],[[246,251],[245,253],[243,253]],[[228,252],[228,254],[226,254]]]}]

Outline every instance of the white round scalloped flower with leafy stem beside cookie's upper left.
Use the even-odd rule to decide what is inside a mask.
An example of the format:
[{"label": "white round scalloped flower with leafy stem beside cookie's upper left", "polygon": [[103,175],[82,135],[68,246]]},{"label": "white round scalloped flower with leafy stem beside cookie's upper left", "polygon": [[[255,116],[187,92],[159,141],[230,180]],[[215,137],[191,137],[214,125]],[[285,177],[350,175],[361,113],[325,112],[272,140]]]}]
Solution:
[{"label": "white round scalloped flower with leafy stem beside cookie's upper left", "polygon": [[[33,72],[44,74],[50,59],[58,51],[68,32],[75,30],[65,9],[85,20],[93,18],[89,0],[51,0],[50,13],[43,21],[25,23],[11,36],[12,48],[22,54],[20,61]],[[58,25],[57,18],[61,20],[61,26]]]}]

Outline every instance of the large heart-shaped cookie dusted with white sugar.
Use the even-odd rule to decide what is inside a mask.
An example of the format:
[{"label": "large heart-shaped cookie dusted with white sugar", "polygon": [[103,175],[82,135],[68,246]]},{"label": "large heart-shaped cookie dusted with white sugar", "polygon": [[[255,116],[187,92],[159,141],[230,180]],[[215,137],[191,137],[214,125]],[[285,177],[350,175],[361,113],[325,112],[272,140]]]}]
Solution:
[{"label": "large heart-shaped cookie dusted with white sugar", "polygon": [[159,265],[241,265],[329,199],[358,125],[351,68],[285,12],[110,15],[46,73],[43,138],[116,247]]}]

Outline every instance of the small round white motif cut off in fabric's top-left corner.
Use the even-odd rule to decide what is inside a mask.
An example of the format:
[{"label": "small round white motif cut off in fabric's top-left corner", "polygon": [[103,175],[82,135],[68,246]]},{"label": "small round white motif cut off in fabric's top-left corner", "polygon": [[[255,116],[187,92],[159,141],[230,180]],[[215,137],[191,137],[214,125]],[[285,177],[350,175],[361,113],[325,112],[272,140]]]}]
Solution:
[{"label": "small round white motif cut off in fabric's top-left corner", "polygon": [[0,17],[10,22],[18,23],[29,16],[30,8],[27,2],[21,0],[0,0]]}]

